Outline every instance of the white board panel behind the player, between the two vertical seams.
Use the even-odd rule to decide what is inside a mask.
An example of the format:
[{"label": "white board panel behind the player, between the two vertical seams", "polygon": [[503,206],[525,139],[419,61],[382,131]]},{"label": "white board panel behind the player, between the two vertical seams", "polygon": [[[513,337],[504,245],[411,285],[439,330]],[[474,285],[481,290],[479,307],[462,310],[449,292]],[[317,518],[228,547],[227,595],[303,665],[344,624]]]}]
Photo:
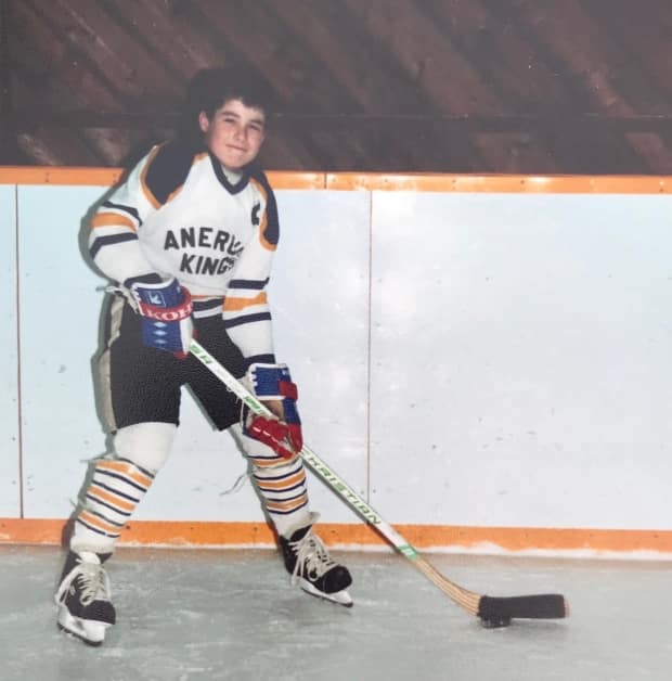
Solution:
[{"label": "white board panel behind the player, between the two vertical seams", "polygon": [[[27,517],[67,517],[87,460],[106,449],[92,372],[99,287],[106,282],[77,246],[82,217],[103,193],[20,189]],[[284,192],[279,205],[282,241],[270,284],[279,359],[299,385],[307,441],[365,493],[369,198]],[[46,221],[47,209],[54,217]],[[338,329],[329,325],[336,317]],[[214,432],[185,391],[171,457],[134,518],[262,521],[250,484],[223,493],[246,471],[233,438]],[[324,518],[356,521],[320,481],[310,485],[312,506]]]}]

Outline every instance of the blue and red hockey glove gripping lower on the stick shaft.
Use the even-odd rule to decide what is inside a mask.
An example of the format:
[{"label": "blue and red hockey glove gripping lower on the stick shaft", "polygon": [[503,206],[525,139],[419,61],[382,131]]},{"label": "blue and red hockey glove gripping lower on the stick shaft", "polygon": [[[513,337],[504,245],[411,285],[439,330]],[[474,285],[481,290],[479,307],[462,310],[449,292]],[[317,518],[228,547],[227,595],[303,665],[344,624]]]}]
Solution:
[{"label": "blue and red hockey glove gripping lower on the stick shaft", "polygon": [[286,364],[253,364],[247,370],[247,382],[261,400],[280,400],[284,420],[260,416],[253,412],[243,414],[246,435],[263,442],[283,459],[293,459],[303,447],[301,420],[296,408],[298,393]]}]

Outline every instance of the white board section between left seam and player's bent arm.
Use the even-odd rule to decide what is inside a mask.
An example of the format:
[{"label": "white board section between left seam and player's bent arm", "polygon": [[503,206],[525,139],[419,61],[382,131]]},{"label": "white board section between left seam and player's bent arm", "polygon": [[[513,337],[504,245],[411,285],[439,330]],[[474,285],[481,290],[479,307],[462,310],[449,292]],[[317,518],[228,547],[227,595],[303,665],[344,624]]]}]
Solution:
[{"label": "white board section between left seam and player's bent arm", "polygon": [[104,188],[20,187],[24,506],[68,517],[87,471],[105,451],[92,358],[105,280],[79,246]]}]

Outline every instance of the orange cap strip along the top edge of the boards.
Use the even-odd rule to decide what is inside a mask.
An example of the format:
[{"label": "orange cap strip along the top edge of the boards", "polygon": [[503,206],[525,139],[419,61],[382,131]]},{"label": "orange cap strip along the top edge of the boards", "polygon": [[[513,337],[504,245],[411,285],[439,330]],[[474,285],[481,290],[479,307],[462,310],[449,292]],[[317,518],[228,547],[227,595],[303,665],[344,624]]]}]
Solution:
[{"label": "orange cap strip along the top edge of the boards", "polygon": [[[109,187],[121,168],[3,166],[0,184]],[[672,176],[526,176],[386,172],[269,171],[274,189],[329,189],[414,192],[492,192],[542,194],[670,194]]]}]

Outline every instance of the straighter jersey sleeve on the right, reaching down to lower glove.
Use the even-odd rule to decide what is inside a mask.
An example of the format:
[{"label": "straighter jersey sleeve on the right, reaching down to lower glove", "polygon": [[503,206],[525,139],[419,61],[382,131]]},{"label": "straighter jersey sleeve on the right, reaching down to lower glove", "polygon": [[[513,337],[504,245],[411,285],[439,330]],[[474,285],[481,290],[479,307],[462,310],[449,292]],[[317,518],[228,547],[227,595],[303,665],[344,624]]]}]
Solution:
[{"label": "straighter jersey sleeve on the right, reaching down to lower glove", "polygon": [[229,282],[223,303],[227,333],[238,346],[248,365],[275,363],[271,311],[267,286],[280,237],[275,196],[266,176],[250,179],[261,195],[257,223]]}]

